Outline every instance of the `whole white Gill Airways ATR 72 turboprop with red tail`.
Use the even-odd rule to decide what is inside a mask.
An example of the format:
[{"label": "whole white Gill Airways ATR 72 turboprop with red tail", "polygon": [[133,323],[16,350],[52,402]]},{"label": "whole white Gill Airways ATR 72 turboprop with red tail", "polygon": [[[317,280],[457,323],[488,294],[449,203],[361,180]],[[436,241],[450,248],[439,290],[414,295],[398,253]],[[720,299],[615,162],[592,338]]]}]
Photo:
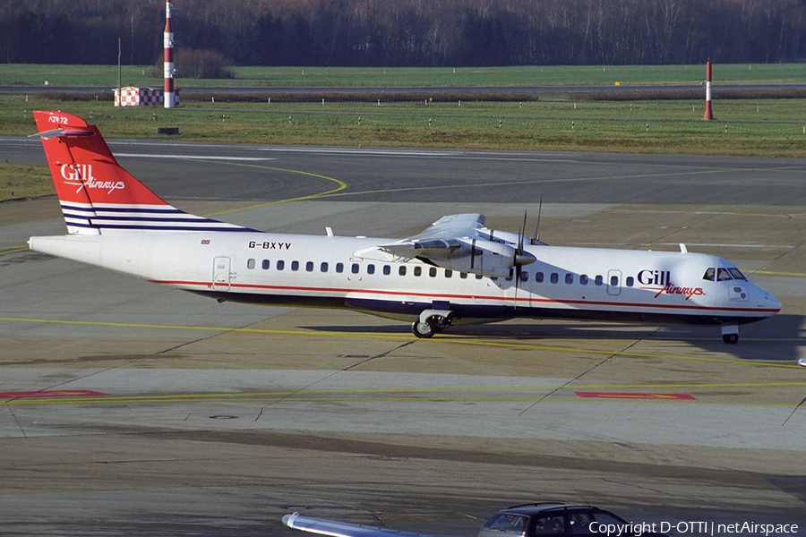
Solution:
[{"label": "whole white Gill Airways ATR 72 turboprop with red tail", "polygon": [[730,261],[681,251],[549,246],[442,217],[406,239],[271,234],[176,209],[126,172],[94,125],[34,112],[67,224],[30,249],[219,301],[347,308],[416,337],[512,318],[739,325],[781,303]]}]

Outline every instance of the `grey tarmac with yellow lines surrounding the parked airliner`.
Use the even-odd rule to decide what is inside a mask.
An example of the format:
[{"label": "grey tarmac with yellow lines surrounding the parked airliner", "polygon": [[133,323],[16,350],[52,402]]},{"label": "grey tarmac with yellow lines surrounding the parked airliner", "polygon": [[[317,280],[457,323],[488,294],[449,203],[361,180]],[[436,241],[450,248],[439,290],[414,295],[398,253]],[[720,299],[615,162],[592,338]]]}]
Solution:
[{"label": "grey tarmac with yellow lines surrounding the parked airliner", "polygon": [[[26,251],[64,233],[58,203],[5,202],[0,535],[293,535],[279,520],[298,510],[469,536],[544,499],[633,522],[806,526],[806,161],[110,145],[177,206],[280,233],[404,236],[464,211],[517,230],[544,195],[548,243],[685,243],[784,310],[738,345],[552,320],[416,340],[355,312],[219,304]],[[10,162],[41,153],[0,139]]]}]

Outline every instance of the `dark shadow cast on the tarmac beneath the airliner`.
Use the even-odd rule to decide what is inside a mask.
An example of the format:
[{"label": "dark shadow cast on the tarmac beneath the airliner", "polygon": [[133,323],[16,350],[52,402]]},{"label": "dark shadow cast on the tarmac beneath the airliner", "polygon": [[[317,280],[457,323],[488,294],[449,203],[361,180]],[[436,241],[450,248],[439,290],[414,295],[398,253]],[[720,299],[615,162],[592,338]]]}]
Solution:
[{"label": "dark shadow cast on the tarmac beneath the airliner", "polygon": [[[605,322],[540,321],[513,324],[469,325],[451,327],[434,338],[479,337],[510,341],[571,339],[585,341],[594,339],[647,339],[655,341],[681,341],[699,347],[704,351],[733,354],[740,360],[762,360],[766,362],[797,362],[801,357],[800,348],[806,345],[803,338],[803,323],[806,316],[779,314],[769,320],[742,326],[737,345],[725,345],[719,328],[651,325],[633,325]],[[348,334],[408,334],[407,324],[382,326],[306,326],[314,331],[341,332]],[[671,351],[670,354],[680,351]]]}]

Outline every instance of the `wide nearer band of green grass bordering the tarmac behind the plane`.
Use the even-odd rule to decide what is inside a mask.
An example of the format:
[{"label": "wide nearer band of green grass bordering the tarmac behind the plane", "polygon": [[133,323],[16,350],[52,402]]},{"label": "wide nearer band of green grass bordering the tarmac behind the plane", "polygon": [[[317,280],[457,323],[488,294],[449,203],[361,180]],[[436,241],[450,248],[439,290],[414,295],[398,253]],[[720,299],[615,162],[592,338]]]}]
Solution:
[{"label": "wide nearer band of green grass bordering the tarmac behind the plane", "polygon": [[[539,100],[523,103],[206,103],[173,110],[116,108],[109,101],[0,97],[0,134],[36,131],[30,110],[59,109],[98,124],[110,138],[341,146],[606,150],[778,157],[806,156],[806,100],[703,102]],[[156,119],[155,119],[156,116]],[[360,121],[359,121],[360,120]],[[648,125],[648,126],[647,126]]]}]

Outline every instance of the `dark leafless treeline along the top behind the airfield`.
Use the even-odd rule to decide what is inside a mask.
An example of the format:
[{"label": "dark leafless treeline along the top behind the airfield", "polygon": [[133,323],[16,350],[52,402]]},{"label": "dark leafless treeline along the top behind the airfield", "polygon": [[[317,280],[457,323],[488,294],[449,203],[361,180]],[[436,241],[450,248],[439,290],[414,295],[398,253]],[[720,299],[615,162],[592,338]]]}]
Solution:
[{"label": "dark leafless treeline along the top behind the airfield", "polygon": [[[176,48],[231,65],[776,63],[806,0],[174,0]],[[165,2],[5,0],[0,62],[157,64]]]}]

